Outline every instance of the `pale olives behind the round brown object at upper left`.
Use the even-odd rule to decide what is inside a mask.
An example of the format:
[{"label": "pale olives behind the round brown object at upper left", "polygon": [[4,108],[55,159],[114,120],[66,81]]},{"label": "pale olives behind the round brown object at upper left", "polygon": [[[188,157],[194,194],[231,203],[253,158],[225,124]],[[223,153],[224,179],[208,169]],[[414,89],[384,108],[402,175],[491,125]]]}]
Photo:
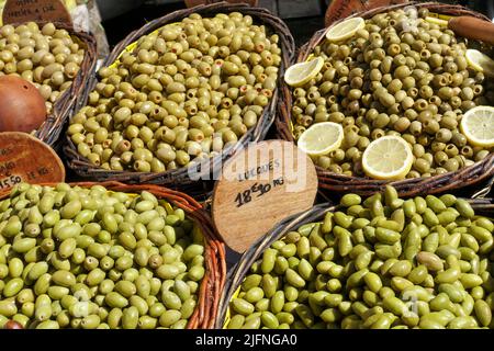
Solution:
[{"label": "pale olives behind the round brown object at upper left", "polygon": [[0,76],[15,75],[32,82],[48,113],[67,90],[85,58],[85,48],[66,30],[35,22],[0,27]]}]

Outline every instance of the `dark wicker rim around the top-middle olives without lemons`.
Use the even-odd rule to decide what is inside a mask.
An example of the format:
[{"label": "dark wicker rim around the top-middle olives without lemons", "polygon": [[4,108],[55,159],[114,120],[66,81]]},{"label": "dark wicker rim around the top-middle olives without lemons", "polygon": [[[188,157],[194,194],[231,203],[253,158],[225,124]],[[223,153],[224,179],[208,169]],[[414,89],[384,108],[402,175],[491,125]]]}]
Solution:
[{"label": "dark wicker rim around the top-middle olives without lemons", "polygon": [[[279,77],[283,77],[284,69],[290,66],[293,55],[294,55],[294,41],[290,34],[289,29],[285,24],[278,18],[270,14],[269,11],[259,8],[250,8],[247,4],[232,4],[227,2],[220,2],[213,4],[198,5],[192,9],[179,10],[167,14],[160,19],[149,22],[144,27],[138,31],[131,33],[123,42],[121,42],[112,52],[110,57],[106,59],[105,65],[112,64],[122,53],[125,47],[131,43],[136,42],[143,35],[154,32],[155,30],[177,21],[181,21],[191,13],[200,13],[203,16],[214,15],[220,12],[242,12],[243,14],[250,15],[257,23],[261,23],[270,27],[274,33],[280,36],[281,49],[282,49],[282,63],[280,67]],[[91,91],[98,82],[98,77],[94,77],[86,90],[87,93]],[[279,79],[278,87],[283,84],[283,79]],[[243,148],[247,143],[262,140],[268,133],[269,127],[274,121],[279,90],[277,89],[273,93],[271,102],[265,109],[261,117],[258,121],[256,127],[252,127],[244,135],[238,143],[234,146],[226,148],[222,156],[210,159],[209,170],[220,169],[216,167],[222,161],[234,155],[237,150]],[[86,97],[87,99],[87,97]],[[87,101],[87,100],[86,100]],[[64,151],[68,159],[68,165],[74,169],[79,176],[89,178],[91,180],[105,181],[105,180],[117,180],[125,181],[130,183],[155,183],[162,184],[172,188],[188,189],[199,186],[197,182],[189,177],[188,168],[180,168],[177,170],[170,170],[162,173],[153,172],[132,172],[132,171],[108,171],[92,165],[88,159],[81,157],[77,152],[77,148],[70,138],[66,138],[67,144],[64,147]],[[213,165],[215,165],[213,167]]]}]

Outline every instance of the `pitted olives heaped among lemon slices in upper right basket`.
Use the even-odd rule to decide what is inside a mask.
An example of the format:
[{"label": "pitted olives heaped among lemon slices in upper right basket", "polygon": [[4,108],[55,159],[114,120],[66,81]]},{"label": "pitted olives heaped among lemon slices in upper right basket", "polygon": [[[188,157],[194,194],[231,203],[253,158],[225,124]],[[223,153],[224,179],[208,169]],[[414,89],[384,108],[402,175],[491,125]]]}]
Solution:
[{"label": "pitted olives heaped among lemon slices in upper right basket", "polygon": [[492,148],[468,141],[459,123],[465,111],[494,104],[494,81],[465,58],[468,48],[492,49],[457,37],[427,15],[427,9],[375,14],[348,41],[325,39],[314,48],[325,64],[292,92],[294,136],[319,122],[339,123],[345,132],[340,148],[316,160],[319,167],[363,177],[362,154],[384,135],[413,147],[407,178],[457,171],[490,155]]}]

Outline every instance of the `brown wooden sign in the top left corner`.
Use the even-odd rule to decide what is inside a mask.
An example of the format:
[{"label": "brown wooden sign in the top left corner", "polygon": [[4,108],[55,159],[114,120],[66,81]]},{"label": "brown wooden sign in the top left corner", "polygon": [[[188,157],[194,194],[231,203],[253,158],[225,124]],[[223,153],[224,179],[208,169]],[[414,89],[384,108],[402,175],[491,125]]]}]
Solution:
[{"label": "brown wooden sign in the top left corner", "polygon": [[3,23],[57,22],[72,25],[72,19],[60,0],[7,0]]}]

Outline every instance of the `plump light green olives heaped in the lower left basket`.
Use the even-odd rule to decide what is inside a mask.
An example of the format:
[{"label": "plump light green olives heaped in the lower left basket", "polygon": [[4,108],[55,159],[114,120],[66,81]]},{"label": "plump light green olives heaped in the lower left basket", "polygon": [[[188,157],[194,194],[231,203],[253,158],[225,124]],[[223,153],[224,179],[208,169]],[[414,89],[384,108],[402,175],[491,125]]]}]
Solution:
[{"label": "plump light green olives heaped in the lower left basket", "polygon": [[180,208],[60,183],[0,202],[0,328],[186,328],[204,239]]}]

